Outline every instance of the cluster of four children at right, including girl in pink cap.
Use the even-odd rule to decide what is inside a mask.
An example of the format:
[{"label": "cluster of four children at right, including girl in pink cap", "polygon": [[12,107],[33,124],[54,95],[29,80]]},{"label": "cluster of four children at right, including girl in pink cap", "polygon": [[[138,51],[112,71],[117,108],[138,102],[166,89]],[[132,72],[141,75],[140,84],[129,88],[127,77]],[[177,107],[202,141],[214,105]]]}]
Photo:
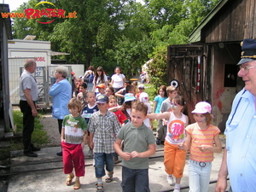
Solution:
[{"label": "cluster of four children at right, including girl in pink cap", "polygon": [[[168,97],[165,99],[165,96]],[[220,131],[211,124],[212,107],[208,102],[195,105],[195,110],[191,112],[194,113],[195,123],[191,125],[188,125],[188,116],[183,114],[184,108],[183,96],[177,96],[175,87],[161,86],[159,96],[154,98],[155,113],[148,114],[148,118],[160,119],[156,143],[160,144],[164,136],[164,165],[167,182],[174,185],[173,191],[180,191],[186,153],[189,151],[189,192],[207,192],[213,153],[222,151],[218,137]]]}]

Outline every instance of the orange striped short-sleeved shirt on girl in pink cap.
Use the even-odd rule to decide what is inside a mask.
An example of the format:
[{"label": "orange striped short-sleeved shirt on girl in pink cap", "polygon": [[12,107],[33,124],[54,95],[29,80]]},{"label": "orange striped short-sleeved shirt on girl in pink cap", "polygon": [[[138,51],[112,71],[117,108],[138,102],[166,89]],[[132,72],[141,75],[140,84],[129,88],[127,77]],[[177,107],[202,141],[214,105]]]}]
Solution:
[{"label": "orange striped short-sleeved shirt on girl in pink cap", "polygon": [[199,162],[211,162],[213,160],[213,152],[201,152],[201,145],[213,146],[214,137],[220,132],[217,126],[209,125],[206,130],[201,130],[197,123],[186,127],[187,135],[191,137],[190,160]]}]

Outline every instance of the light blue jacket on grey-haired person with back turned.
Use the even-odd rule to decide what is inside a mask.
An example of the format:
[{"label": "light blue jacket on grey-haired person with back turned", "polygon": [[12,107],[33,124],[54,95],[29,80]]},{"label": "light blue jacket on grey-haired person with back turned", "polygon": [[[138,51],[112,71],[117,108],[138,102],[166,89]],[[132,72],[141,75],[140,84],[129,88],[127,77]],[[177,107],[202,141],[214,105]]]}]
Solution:
[{"label": "light blue jacket on grey-haired person with back turned", "polygon": [[52,117],[55,119],[64,119],[69,114],[67,104],[71,99],[71,84],[67,79],[63,79],[57,84],[53,84],[49,90],[49,96],[53,97]]}]

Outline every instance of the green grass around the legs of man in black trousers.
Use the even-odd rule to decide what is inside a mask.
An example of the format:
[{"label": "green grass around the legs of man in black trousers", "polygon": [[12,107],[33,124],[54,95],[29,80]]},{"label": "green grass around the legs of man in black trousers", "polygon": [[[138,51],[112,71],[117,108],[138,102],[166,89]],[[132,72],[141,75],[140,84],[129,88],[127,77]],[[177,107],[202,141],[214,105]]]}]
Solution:
[{"label": "green grass around the legs of man in black trousers", "polygon": [[[14,111],[14,122],[16,125],[16,130],[15,133],[22,133],[22,129],[23,129],[23,114],[16,110]],[[38,117],[35,118],[35,128],[34,131],[32,133],[32,143],[35,146],[41,146],[43,144],[47,144],[49,143],[49,137],[47,136],[47,132],[44,131],[43,129],[43,125],[40,122],[40,118],[42,117],[42,114],[38,113]],[[22,143],[22,139],[20,140],[15,140],[11,142],[11,150],[21,150],[23,149],[23,143]]]}]

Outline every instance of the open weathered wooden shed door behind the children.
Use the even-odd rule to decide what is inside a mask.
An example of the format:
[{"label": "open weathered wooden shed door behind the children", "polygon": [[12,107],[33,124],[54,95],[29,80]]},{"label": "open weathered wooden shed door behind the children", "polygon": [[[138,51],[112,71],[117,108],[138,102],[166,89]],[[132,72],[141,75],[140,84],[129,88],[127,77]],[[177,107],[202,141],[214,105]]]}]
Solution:
[{"label": "open weathered wooden shed door behind the children", "polygon": [[[206,49],[207,47],[205,47]],[[207,67],[202,45],[172,45],[167,52],[168,84],[176,79],[178,90],[184,96],[189,120],[194,122],[191,111],[196,102],[207,100]],[[189,112],[189,113],[188,113]]]}]

